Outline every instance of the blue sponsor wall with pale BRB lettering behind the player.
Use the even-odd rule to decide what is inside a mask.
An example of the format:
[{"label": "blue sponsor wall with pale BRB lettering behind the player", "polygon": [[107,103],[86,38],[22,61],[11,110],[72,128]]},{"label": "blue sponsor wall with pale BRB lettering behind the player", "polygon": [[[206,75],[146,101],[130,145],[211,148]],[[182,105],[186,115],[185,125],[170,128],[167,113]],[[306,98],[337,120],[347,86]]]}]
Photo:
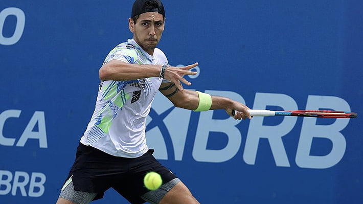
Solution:
[{"label": "blue sponsor wall with pale BRB lettering behind the player", "polygon": [[[133,1],[0,4],[0,202],[55,203],[92,115],[107,53],[132,37]],[[187,87],[255,109],[363,112],[361,1],[164,1],[159,44],[199,62]],[[147,141],[201,203],[363,203],[362,119],[173,108]],[[94,203],[127,203],[109,190]]]}]

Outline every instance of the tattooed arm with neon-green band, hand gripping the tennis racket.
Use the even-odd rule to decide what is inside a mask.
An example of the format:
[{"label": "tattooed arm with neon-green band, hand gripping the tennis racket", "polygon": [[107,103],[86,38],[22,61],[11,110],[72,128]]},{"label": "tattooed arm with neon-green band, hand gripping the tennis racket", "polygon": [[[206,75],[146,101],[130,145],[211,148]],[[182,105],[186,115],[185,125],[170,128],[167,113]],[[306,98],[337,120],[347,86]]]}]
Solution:
[{"label": "tattooed arm with neon-green band, hand gripping the tennis racket", "polygon": [[[173,82],[162,83],[160,92],[166,96],[175,107],[194,111],[206,111],[224,109],[234,119],[251,119],[246,105],[222,96],[210,96],[209,94],[195,92],[193,90],[180,90]],[[232,116],[232,110],[237,110]]]}]

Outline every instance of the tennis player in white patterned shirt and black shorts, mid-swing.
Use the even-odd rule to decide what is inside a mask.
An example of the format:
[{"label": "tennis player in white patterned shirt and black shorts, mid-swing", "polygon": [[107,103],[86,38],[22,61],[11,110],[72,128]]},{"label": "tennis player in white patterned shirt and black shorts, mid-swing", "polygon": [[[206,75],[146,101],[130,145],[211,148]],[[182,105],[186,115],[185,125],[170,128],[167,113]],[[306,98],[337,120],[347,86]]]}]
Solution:
[{"label": "tennis player in white patterned shirt and black shorts, mid-swing", "polygon": [[[111,50],[99,70],[96,107],[61,188],[57,204],[86,204],[114,188],[130,203],[199,203],[169,169],[158,163],[145,141],[146,117],[158,90],[176,107],[194,111],[224,109],[235,119],[251,119],[242,103],[183,89],[184,75],[198,63],[168,65],[156,48],[164,31],[165,11],[159,0],[136,0],[128,19],[133,38]],[[238,110],[232,116],[232,110]],[[149,191],[143,178],[155,171],[163,185]]]}]

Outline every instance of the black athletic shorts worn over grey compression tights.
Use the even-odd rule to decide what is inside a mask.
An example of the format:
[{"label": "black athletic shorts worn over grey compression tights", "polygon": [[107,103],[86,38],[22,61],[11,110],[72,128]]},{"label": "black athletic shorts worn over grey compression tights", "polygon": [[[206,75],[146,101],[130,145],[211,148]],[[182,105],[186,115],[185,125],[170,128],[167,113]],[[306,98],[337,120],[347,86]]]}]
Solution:
[{"label": "black athletic shorts worn over grey compression tights", "polygon": [[97,193],[93,200],[102,198],[107,189],[114,188],[131,203],[144,203],[140,196],[149,191],[143,182],[147,172],[159,173],[163,184],[176,178],[156,161],[153,152],[149,149],[140,157],[125,158],[79,143],[76,160],[66,180],[72,176],[76,191]]}]

